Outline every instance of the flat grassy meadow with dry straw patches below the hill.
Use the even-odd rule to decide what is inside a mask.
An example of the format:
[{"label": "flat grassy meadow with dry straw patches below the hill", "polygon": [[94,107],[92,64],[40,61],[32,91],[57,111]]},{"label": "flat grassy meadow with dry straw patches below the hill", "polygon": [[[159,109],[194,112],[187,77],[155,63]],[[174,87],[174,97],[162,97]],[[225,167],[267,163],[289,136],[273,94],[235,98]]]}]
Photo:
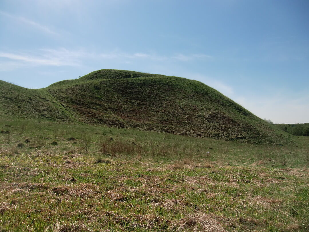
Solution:
[{"label": "flat grassy meadow with dry straw patches below the hill", "polygon": [[0,130],[0,231],[309,230],[306,137],[254,145],[9,119]]}]

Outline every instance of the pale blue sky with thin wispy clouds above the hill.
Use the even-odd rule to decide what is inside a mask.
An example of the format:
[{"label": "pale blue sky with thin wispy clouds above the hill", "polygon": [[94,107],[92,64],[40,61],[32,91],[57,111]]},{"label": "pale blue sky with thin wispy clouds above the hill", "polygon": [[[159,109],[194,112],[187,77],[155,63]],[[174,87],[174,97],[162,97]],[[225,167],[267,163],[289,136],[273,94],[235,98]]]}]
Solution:
[{"label": "pale blue sky with thin wispy clouds above the hill", "polygon": [[309,122],[308,0],[1,0],[0,79],[99,69],[199,80],[260,118]]}]

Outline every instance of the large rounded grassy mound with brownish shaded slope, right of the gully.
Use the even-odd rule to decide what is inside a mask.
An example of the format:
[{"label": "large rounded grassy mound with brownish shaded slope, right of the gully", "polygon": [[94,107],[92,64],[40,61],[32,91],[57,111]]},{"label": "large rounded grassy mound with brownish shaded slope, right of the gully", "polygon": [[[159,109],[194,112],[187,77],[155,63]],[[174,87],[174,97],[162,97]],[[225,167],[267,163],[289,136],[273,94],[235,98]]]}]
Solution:
[{"label": "large rounded grassy mound with brownish shaded slope, right of the gully", "polygon": [[[27,91],[20,91],[20,101]],[[57,120],[250,143],[287,141],[274,127],[213,88],[180,77],[99,70],[31,91],[48,97],[44,107],[57,108],[63,116]],[[33,117],[44,116],[33,112]]]}]

